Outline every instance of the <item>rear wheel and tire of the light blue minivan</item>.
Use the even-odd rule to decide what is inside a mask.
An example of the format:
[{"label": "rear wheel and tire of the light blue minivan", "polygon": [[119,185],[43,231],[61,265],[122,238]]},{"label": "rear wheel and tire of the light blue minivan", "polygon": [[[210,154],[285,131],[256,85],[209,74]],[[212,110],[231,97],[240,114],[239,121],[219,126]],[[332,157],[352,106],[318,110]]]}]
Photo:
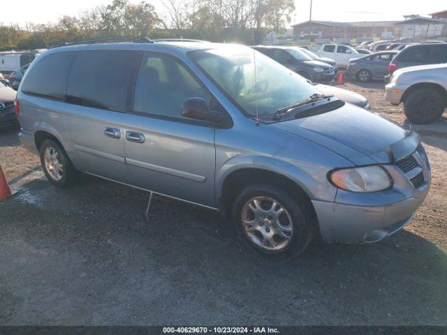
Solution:
[{"label": "rear wheel and tire of the light blue minivan", "polygon": [[70,186],[78,180],[78,172],[64,148],[54,140],[44,140],[39,147],[41,165],[47,179],[55,186]]}]

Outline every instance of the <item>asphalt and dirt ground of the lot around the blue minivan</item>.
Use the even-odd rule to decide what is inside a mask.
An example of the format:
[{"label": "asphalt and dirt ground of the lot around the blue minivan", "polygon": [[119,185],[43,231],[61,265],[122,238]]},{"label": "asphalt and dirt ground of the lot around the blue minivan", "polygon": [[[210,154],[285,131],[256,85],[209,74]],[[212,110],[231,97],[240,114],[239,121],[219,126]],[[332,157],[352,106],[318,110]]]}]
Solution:
[{"label": "asphalt and dirt ground of the lot around the blue minivan", "polygon": [[[345,87],[405,123],[382,84]],[[147,223],[147,193],[93,177],[54,188],[17,131],[0,133],[15,191],[0,202],[0,325],[447,325],[445,121],[420,130],[432,188],[404,230],[281,262],[213,211],[155,198]]]}]

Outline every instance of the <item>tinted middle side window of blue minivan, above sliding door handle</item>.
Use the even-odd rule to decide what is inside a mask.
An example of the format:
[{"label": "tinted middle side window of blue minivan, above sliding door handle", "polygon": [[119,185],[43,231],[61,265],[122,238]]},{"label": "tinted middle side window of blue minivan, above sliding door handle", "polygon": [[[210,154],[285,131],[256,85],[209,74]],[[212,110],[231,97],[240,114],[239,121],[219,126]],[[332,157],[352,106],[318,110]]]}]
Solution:
[{"label": "tinted middle side window of blue minivan, above sliding door handle", "polygon": [[67,86],[67,101],[77,105],[125,112],[138,52],[95,50],[76,52]]}]

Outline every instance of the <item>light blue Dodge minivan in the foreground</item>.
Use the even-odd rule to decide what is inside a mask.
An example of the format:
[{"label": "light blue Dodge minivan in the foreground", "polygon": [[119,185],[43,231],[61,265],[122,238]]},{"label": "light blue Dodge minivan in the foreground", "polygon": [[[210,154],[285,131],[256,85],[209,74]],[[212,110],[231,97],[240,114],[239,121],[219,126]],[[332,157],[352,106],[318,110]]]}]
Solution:
[{"label": "light blue Dodge minivan in the foreground", "polygon": [[270,255],[315,236],[379,241],[430,186],[415,132],[241,45],[55,47],[29,67],[16,114],[52,184],[85,172],[219,210]]}]

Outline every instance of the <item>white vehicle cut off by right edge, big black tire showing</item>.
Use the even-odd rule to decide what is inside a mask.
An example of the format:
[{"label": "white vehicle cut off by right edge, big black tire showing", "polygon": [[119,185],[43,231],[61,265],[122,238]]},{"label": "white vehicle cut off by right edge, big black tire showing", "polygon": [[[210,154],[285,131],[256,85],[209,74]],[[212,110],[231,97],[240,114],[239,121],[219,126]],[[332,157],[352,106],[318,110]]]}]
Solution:
[{"label": "white vehicle cut off by right edge, big black tire showing", "polygon": [[385,90],[386,101],[392,105],[403,103],[410,121],[431,124],[447,108],[447,64],[396,70]]}]

